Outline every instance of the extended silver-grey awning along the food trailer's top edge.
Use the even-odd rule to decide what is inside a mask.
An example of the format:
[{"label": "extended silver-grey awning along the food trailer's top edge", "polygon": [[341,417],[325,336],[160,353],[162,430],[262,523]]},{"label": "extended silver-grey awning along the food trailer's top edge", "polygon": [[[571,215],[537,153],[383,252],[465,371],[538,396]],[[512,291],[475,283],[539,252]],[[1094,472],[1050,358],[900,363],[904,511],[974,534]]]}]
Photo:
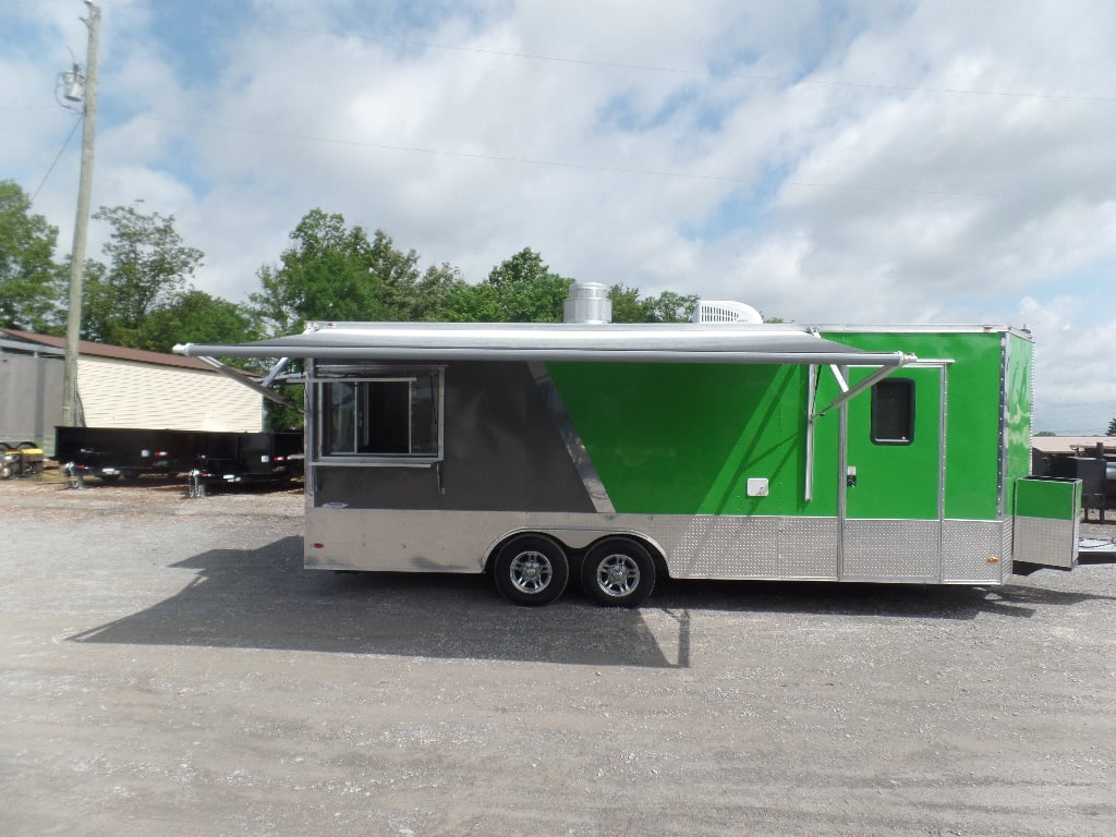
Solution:
[{"label": "extended silver-grey awning along the food trailer's top edge", "polygon": [[799,326],[740,324],[567,325],[478,323],[310,324],[288,337],[175,346],[190,357],[352,360],[593,360],[838,364],[897,367],[903,352],[864,352]]}]

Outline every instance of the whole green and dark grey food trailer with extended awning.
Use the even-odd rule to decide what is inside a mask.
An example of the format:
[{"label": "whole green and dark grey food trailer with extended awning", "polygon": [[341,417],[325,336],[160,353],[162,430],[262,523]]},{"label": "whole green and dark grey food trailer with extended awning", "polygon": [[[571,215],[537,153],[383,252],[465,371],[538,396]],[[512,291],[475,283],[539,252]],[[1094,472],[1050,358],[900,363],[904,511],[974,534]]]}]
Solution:
[{"label": "whole green and dark grey food trailer with extended awning", "polygon": [[305,566],[1000,585],[1077,562],[1080,482],[1030,471],[1007,326],[317,323],[208,357],[305,364]]}]

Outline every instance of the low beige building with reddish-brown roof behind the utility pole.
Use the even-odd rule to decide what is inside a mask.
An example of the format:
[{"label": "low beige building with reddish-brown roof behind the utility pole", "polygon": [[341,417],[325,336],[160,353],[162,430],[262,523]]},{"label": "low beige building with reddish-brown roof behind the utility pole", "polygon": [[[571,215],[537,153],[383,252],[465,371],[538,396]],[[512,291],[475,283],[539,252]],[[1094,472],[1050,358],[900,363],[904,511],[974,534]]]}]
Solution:
[{"label": "low beige building with reddish-brown roof behind the utility pole", "polygon": [[[66,340],[0,329],[0,441],[54,450]],[[81,340],[78,424],[259,432],[262,398],[192,357]]]}]

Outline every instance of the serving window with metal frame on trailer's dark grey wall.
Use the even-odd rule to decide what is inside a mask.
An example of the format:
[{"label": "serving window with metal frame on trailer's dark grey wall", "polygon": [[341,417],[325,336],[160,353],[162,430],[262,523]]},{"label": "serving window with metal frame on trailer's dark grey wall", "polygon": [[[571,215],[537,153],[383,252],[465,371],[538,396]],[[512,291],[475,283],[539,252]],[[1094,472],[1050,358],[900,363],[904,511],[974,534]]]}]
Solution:
[{"label": "serving window with metal frame on trailer's dark grey wall", "polygon": [[442,460],[443,371],[327,366],[311,381],[316,460],[425,464]]}]

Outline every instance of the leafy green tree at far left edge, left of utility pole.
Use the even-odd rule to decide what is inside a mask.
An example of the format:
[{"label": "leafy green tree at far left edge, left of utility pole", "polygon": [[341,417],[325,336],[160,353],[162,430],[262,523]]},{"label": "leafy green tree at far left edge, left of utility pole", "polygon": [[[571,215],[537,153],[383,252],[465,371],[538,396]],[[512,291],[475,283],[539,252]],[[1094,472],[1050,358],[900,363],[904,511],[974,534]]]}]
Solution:
[{"label": "leafy green tree at far left edge, left of utility pole", "polygon": [[0,181],[0,326],[65,330],[67,283],[54,261],[58,230],[31,212],[16,183]]}]

